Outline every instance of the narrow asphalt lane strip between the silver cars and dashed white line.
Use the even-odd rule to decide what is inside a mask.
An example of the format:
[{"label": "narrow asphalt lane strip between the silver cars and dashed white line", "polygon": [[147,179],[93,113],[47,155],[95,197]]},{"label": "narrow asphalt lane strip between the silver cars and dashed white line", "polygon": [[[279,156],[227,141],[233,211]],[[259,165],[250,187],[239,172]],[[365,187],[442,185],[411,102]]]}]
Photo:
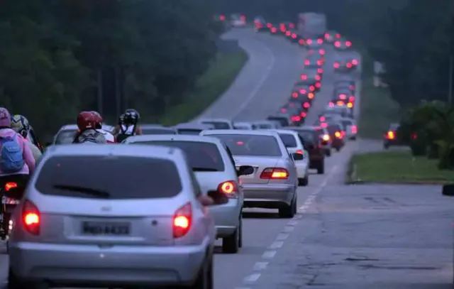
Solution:
[{"label": "narrow asphalt lane strip between the silver cars and dashed white line", "polygon": [[[348,151],[348,150],[346,150]],[[308,197],[321,190],[339,168],[348,161],[348,153],[333,153],[326,158],[326,173],[311,170],[309,185],[298,189],[298,208],[307,204]],[[285,237],[286,227],[294,219],[279,219],[277,210],[248,208],[243,210],[243,248],[237,254],[221,253],[219,241],[214,258],[214,282],[216,289],[232,289],[241,286],[251,272],[260,268],[267,253],[280,246],[279,238]],[[297,214],[298,216],[299,214]],[[277,240],[277,241],[276,241]],[[265,255],[265,256],[264,256]]]}]

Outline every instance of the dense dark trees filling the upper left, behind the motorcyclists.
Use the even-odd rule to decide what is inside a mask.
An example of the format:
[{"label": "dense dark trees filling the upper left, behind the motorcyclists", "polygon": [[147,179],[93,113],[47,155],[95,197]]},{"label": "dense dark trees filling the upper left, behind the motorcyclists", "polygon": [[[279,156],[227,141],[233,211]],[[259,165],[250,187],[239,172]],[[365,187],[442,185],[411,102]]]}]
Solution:
[{"label": "dense dark trees filling the upper left, behind the motorcyclists", "polygon": [[41,133],[74,123],[81,109],[159,115],[192,89],[221,32],[203,0],[0,0],[0,7],[0,106]]}]

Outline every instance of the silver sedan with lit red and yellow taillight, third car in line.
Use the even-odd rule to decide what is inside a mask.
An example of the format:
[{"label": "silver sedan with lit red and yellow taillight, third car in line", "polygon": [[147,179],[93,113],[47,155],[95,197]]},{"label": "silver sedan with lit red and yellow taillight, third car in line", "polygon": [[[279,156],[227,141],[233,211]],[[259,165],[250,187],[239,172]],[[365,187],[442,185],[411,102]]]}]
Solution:
[{"label": "silver sedan with lit red and yellow taillight, third car in line", "polygon": [[279,209],[280,217],[297,213],[298,175],[294,160],[275,131],[211,130],[202,136],[221,139],[230,149],[236,165],[250,165],[251,175],[240,177],[245,207]]}]

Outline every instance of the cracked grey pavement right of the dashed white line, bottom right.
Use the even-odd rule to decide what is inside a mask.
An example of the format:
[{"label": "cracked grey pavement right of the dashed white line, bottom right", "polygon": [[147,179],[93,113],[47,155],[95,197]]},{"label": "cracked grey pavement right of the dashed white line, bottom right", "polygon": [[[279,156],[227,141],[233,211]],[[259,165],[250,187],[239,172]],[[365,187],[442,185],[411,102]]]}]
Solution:
[{"label": "cracked grey pavement right of the dashed white line, bottom right", "polygon": [[453,205],[440,186],[329,185],[257,288],[452,288]]}]

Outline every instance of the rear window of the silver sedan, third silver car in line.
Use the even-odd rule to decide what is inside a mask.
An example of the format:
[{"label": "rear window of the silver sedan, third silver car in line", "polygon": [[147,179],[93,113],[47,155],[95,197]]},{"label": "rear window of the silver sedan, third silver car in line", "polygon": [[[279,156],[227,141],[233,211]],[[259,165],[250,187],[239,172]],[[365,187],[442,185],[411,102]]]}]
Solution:
[{"label": "rear window of the silver sedan, third silver car in line", "polygon": [[274,136],[249,134],[210,134],[226,143],[233,156],[282,156]]}]

